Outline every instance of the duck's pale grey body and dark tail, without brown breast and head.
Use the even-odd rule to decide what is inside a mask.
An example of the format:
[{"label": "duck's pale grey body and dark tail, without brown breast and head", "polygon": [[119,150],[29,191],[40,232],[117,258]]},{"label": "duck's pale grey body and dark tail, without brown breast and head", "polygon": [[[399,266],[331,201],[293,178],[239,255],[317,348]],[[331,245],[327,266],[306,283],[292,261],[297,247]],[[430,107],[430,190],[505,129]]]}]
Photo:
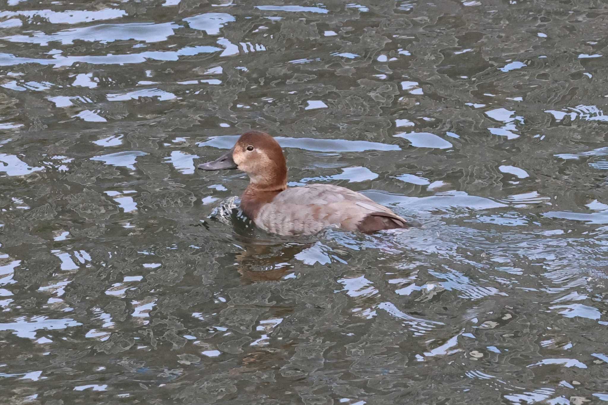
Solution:
[{"label": "duck's pale grey body and dark tail, without brown breast and head", "polygon": [[280,192],[260,209],[255,223],[282,235],[313,234],[327,226],[365,233],[410,226],[389,208],[359,192],[317,184]]}]

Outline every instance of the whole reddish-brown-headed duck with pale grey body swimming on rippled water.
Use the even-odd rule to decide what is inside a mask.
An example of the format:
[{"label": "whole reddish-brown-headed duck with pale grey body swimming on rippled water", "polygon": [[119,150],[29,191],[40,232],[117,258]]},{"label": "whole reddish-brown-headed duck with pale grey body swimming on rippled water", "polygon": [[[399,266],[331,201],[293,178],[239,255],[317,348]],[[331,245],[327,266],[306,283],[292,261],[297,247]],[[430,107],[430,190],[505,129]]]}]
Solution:
[{"label": "whole reddish-brown-headed duck with pale grey body swimming on rippled water", "polygon": [[245,172],[249,185],[241,196],[241,210],[268,233],[311,235],[331,227],[370,234],[412,226],[384,205],[345,187],[288,187],[285,155],[266,132],[245,132],[226,154],[198,168]]}]

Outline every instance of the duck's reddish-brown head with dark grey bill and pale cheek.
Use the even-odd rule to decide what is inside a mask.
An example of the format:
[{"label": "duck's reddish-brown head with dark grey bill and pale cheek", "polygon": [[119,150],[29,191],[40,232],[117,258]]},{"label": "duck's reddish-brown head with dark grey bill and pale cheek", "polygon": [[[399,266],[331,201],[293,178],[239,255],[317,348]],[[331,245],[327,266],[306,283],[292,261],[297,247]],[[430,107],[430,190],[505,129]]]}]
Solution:
[{"label": "duck's reddish-brown head with dark grey bill and pale cheek", "polygon": [[278,142],[266,132],[245,132],[232,149],[198,168],[239,169],[249,175],[250,185],[258,189],[285,189],[287,185],[285,156]]}]

